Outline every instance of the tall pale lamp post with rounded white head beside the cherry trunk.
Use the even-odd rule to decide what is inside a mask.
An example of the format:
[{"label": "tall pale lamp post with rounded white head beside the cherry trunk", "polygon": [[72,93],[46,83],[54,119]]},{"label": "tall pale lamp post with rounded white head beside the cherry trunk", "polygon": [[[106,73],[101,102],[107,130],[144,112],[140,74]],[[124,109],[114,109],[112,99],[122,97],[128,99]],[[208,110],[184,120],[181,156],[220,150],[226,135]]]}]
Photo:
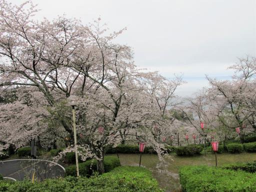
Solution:
[{"label": "tall pale lamp post with rounded white head beside the cherry trunk", "polygon": [[76,176],[79,176],[78,154],[77,154],[77,147],[76,147],[75,109],[74,109],[75,105],[77,105],[78,98],[74,95],[71,95],[67,98],[67,100],[68,100],[68,105],[72,106]]}]

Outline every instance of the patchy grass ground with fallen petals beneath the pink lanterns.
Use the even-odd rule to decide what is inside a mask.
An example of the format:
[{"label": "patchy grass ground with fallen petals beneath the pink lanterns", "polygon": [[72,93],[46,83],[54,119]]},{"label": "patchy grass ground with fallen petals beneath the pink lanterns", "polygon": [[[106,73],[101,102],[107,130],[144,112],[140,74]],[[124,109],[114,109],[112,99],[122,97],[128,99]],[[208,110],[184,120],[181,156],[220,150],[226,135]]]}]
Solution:
[{"label": "patchy grass ground with fallen petals beneath the pink lanterns", "polygon": [[[116,154],[111,154],[116,156]],[[138,166],[139,154],[119,154],[121,165]],[[206,156],[181,157],[172,154],[173,161],[166,159],[167,165],[161,164],[155,154],[143,154],[141,165],[152,171],[153,176],[159,182],[160,187],[166,191],[180,191],[178,171],[184,165],[215,165],[214,154],[207,153]],[[243,152],[240,154],[221,153],[217,154],[218,165],[233,162],[247,162],[256,160],[256,153]],[[166,163],[165,163],[166,164]]]}]

